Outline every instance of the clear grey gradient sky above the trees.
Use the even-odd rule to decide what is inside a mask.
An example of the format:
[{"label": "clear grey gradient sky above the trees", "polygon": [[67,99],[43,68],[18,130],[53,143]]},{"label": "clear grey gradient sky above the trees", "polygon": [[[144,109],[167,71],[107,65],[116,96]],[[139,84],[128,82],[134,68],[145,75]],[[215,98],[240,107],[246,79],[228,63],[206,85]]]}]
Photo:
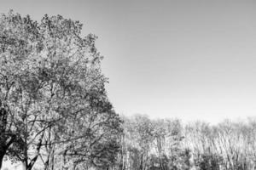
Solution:
[{"label": "clear grey gradient sky above the trees", "polygon": [[40,20],[61,14],[98,37],[108,97],[125,116],[220,122],[256,116],[256,2],[0,0]]}]

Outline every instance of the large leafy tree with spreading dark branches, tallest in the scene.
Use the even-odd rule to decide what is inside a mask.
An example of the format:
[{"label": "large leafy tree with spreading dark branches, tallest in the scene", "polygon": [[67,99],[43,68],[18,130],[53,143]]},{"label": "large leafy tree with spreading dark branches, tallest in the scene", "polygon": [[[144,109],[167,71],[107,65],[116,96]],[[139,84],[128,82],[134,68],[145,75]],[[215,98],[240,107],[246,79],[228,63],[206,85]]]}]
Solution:
[{"label": "large leafy tree with spreading dark branches, tallest in the scene", "polygon": [[0,101],[9,122],[2,124],[11,132],[1,141],[11,142],[6,153],[27,170],[38,158],[53,169],[60,156],[63,166],[67,156],[95,166],[114,157],[121,121],[104,88],[96,36],[81,37],[79,21],[61,15],[38,23],[12,11],[3,14],[0,29]]}]

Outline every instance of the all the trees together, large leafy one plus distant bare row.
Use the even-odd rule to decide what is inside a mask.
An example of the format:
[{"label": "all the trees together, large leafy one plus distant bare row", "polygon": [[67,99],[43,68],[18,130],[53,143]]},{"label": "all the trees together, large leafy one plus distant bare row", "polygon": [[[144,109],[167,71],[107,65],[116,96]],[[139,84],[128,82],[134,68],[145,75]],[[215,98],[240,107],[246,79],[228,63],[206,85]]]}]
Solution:
[{"label": "all the trees together, large leafy one plus distant bare row", "polygon": [[0,18],[0,168],[252,170],[256,121],[182,124],[119,116],[96,36],[61,15]]}]

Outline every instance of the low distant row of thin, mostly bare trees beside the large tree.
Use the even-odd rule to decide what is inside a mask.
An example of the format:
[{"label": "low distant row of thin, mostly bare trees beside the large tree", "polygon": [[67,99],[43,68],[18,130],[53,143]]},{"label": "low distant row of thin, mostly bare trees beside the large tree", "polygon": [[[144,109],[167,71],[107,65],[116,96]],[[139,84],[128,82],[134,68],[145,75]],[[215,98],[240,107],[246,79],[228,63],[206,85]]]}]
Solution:
[{"label": "low distant row of thin, mostly bare trees beside the large tree", "polygon": [[218,125],[125,117],[117,164],[120,170],[253,170],[256,120]]}]

